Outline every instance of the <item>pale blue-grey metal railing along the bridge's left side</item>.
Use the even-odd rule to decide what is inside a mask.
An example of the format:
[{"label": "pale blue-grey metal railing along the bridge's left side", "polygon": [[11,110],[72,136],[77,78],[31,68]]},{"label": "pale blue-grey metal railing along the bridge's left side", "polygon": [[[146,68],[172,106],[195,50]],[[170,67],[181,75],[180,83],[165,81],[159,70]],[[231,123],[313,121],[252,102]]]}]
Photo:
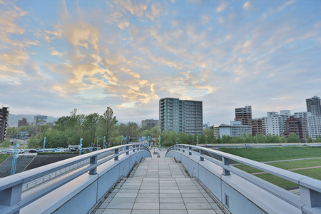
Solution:
[{"label": "pale blue-grey metal railing along the bridge's left side", "polygon": [[[97,167],[103,163],[111,160],[119,161],[120,156],[131,156],[141,151],[146,151],[151,155],[149,149],[143,144],[132,143],[68,158],[1,178],[0,213],[19,212],[21,208],[34,202],[34,200],[41,198],[84,173],[89,172],[90,175],[96,175]],[[53,179],[52,176],[59,179]],[[40,183],[48,183],[49,179],[51,181],[50,185],[44,185],[44,188],[34,188]],[[24,185],[29,185],[29,188],[33,187],[32,191],[24,190],[23,193]]]}]

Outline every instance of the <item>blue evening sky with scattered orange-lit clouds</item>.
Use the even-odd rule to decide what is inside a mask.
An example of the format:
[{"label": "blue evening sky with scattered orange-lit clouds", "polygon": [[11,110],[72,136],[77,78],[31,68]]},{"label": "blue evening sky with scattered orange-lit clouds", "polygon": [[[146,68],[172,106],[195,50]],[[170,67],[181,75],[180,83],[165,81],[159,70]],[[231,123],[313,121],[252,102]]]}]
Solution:
[{"label": "blue evening sky with scattered orange-lit clouds", "polygon": [[113,108],[158,119],[164,97],[203,101],[203,122],[235,108],[306,111],[321,96],[321,1],[0,0],[0,104],[67,116]]}]

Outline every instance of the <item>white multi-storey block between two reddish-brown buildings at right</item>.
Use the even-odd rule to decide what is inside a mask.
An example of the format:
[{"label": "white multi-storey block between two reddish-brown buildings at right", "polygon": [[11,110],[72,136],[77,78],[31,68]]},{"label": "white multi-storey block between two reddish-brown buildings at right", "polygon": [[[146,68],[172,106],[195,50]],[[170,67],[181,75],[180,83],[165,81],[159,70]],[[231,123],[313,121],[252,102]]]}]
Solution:
[{"label": "white multi-storey block between two reddish-brown buildings at right", "polygon": [[285,132],[285,121],[290,117],[289,110],[277,112],[267,112],[265,120],[265,135],[283,136]]}]

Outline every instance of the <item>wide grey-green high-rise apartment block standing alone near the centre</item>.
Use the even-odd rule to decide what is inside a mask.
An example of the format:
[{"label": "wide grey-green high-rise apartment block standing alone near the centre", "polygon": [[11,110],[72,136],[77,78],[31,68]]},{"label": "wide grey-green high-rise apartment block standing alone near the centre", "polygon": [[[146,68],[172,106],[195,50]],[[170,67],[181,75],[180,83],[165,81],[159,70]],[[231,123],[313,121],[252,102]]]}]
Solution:
[{"label": "wide grey-green high-rise apartment block standing alone near the centre", "polygon": [[180,133],[203,133],[202,101],[161,98],[159,101],[159,128]]}]

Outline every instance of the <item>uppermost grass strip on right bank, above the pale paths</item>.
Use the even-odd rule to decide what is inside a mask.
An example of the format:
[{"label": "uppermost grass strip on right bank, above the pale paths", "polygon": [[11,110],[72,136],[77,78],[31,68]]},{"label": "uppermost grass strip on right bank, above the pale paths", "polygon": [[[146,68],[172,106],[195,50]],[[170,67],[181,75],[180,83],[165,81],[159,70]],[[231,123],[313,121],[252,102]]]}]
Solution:
[{"label": "uppermost grass strip on right bank, above the pale paths", "polygon": [[260,162],[321,157],[321,147],[220,148],[220,151]]}]

